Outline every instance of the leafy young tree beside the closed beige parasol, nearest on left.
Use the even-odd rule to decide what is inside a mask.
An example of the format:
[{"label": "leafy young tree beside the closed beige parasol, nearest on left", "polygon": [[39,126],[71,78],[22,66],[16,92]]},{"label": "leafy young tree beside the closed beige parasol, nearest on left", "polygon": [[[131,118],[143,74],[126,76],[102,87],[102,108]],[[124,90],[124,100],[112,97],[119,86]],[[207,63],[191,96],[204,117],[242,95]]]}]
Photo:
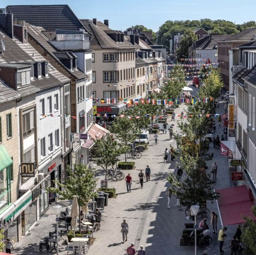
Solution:
[{"label": "leafy young tree beside the closed beige parasol, nearest on left", "polygon": [[[73,200],[73,196],[77,196],[80,213],[81,207],[88,203],[91,198],[97,197],[95,192],[97,179],[94,178],[93,170],[87,167],[86,164],[75,164],[74,171],[68,166],[67,173],[68,177],[65,183],[54,180],[54,184],[57,184],[58,187],[50,187],[46,190],[59,194],[59,200]],[[81,233],[81,221],[79,221],[79,229]]]}]

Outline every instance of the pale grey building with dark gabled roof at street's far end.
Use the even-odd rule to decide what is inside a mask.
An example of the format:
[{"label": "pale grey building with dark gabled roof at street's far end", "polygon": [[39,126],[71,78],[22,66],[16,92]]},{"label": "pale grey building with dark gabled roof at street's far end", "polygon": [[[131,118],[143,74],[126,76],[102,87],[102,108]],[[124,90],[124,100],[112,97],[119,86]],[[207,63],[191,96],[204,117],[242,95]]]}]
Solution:
[{"label": "pale grey building with dark gabled roof at street's far end", "polygon": [[218,63],[218,42],[229,35],[209,34],[197,40],[189,47],[189,59],[193,64]]}]

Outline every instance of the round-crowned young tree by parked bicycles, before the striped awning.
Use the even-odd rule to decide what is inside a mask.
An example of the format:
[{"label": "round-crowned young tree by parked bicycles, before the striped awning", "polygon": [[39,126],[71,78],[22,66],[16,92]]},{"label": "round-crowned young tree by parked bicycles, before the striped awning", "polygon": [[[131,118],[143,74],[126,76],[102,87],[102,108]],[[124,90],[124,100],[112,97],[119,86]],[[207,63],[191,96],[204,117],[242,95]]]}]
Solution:
[{"label": "round-crowned young tree by parked bicycles, before the striped awning", "polygon": [[117,143],[113,135],[107,134],[95,141],[93,146],[93,154],[96,156],[95,162],[98,166],[105,170],[105,181],[107,188],[108,167],[114,166],[118,161],[119,155],[122,153],[122,145]]}]

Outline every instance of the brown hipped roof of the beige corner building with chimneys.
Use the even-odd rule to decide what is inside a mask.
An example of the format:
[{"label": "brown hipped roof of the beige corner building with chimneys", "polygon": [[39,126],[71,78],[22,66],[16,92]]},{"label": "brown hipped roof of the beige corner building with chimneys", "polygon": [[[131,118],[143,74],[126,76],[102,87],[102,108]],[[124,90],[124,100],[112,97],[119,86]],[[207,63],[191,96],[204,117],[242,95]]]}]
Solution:
[{"label": "brown hipped roof of the beige corner building with chimneys", "polygon": [[121,31],[110,29],[101,21],[97,21],[96,24],[92,20],[81,20],[86,29],[92,34],[91,48],[96,50],[100,48],[115,48],[115,49],[127,49],[135,48],[126,38],[124,42],[115,42],[109,35],[111,34],[123,34]]}]

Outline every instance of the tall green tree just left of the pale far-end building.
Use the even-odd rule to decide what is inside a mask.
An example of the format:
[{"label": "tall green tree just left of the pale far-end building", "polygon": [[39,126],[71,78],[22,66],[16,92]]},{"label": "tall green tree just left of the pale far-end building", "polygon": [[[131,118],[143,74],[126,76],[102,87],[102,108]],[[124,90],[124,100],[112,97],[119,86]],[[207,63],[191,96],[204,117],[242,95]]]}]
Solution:
[{"label": "tall green tree just left of the pale far-end building", "polygon": [[183,33],[183,37],[180,42],[180,47],[177,51],[177,56],[179,59],[182,57],[188,57],[188,48],[197,40],[197,36],[194,33],[193,29],[186,29]]}]

